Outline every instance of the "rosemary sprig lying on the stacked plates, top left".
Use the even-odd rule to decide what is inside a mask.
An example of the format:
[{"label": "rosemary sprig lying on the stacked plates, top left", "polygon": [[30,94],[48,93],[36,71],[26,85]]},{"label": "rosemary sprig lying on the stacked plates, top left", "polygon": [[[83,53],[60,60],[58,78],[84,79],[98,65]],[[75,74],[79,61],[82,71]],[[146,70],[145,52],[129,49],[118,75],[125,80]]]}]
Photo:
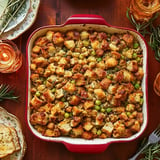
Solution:
[{"label": "rosemary sprig lying on the stacked plates, top left", "polygon": [[22,5],[26,0],[10,0],[5,8],[5,12],[3,13],[1,19],[3,21],[2,28],[0,30],[0,35],[5,31],[8,27],[9,23],[14,20],[16,14],[21,9]]}]

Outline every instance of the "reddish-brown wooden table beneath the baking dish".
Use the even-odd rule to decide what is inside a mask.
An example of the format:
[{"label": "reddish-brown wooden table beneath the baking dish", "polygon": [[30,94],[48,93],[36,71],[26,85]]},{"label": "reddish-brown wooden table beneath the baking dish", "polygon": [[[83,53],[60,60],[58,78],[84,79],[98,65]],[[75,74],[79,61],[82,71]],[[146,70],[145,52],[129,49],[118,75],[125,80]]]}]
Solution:
[{"label": "reddish-brown wooden table beneath the baking dish", "polygon": [[15,114],[22,123],[28,146],[24,160],[127,160],[136,152],[142,139],[160,123],[160,97],[153,91],[153,82],[156,74],[160,71],[160,63],[155,60],[150,47],[148,53],[149,121],[147,129],[137,140],[111,144],[105,152],[100,154],[71,153],[63,144],[45,142],[36,138],[29,131],[25,122],[27,85],[25,47],[27,38],[32,31],[43,25],[62,24],[73,14],[98,14],[111,25],[133,28],[125,15],[128,6],[129,0],[42,0],[35,23],[28,31],[14,40],[23,53],[23,66],[18,72],[0,74],[0,83],[7,83],[15,87],[15,94],[20,95],[20,102],[3,101],[0,102],[0,106]]}]

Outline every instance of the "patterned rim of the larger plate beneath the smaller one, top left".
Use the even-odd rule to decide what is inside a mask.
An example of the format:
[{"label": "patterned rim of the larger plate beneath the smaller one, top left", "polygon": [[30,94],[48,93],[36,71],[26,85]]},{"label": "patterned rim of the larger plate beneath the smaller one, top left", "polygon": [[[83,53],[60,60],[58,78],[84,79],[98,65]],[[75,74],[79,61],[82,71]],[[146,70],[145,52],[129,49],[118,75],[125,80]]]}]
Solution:
[{"label": "patterned rim of the larger plate beneath the smaller one, top left", "polygon": [[36,19],[39,5],[40,0],[30,0],[30,8],[26,18],[10,31],[1,34],[0,38],[13,40],[29,29]]}]

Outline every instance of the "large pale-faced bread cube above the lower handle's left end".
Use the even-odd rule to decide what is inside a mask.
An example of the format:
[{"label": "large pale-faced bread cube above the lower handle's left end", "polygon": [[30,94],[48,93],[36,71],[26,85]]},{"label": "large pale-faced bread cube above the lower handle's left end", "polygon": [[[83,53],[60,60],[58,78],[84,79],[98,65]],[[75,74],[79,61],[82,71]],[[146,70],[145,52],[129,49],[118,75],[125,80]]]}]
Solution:
[{"label": "large pale-faced bread cube above the lower handle's left end", "polygon": [[58,124],[58,128],[64,135],[68,135],[71,131],[72,127],[70,125],[70,122],[68,120],[63,120]]}]

